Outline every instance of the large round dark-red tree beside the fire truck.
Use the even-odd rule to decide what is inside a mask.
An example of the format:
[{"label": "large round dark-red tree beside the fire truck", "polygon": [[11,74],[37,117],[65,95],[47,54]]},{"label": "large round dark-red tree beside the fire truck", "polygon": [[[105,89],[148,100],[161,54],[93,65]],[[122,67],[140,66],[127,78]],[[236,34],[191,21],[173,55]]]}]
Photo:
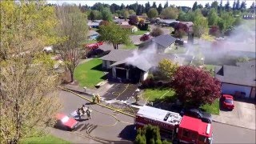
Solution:
[{"label": "large round dark-red tree beside the fire truck", "polygon": [[221,96],[221,83],[208,72],[193,66],[180,66],[172,86],[185,106],[211,104]]}]

